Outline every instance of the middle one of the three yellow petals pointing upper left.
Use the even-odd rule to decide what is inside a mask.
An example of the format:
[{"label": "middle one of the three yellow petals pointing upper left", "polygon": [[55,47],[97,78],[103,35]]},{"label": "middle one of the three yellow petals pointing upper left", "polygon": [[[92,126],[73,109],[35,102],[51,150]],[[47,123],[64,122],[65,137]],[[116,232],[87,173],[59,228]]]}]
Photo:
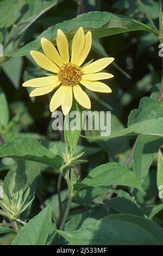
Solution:
[{"label": "middle one of the three yellow petals pointing upper left", "polygon": [[52,62],[54,62],[58,66],[63,65],[61,57],[51,41],[47,40],[46,38],[41,38],[41,46],[42,46],[43,52],[46,54],[46,56],[49,59],[52,60]]}]

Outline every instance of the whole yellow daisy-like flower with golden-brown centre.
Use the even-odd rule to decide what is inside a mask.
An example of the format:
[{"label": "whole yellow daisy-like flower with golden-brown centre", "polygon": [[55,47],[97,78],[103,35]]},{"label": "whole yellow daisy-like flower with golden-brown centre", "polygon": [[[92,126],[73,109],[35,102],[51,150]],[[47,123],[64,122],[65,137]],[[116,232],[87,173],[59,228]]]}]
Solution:
[{"label": "whole yellow daisy-like flower with golden-brown centre", "polygon": [[41,46],[45,54],[38,51],[30,51],[30,54],[41,68],[55,74],[24,82],[25,87],[36,87],[30,96],[50,93],[59,86],[51,99],[50,110],[53,112],[61,105],[62,112],[66,115],[71,109],[73,95],[80,105],[91,108],[89,96],[80,85],[93,92],[111,93],[111,89],[98,80],[113,77],[109,73],[99,71],[108,66],[114,58],[102,58],[80,67],[91,50],[91,44],[91,32],[84,34],[83,28],[80,27],[72,40],[70,60],[68,41],[60,29],[57,32],[58,51],[51,41],[41,38]]}]

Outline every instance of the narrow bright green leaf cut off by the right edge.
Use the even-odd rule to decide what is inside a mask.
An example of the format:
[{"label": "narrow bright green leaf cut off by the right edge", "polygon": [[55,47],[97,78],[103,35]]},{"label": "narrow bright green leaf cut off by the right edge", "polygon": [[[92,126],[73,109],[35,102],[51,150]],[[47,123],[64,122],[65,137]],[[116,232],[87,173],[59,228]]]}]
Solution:
[{"label": "narrow bright green leaf cut off by the right edge", "polygon": [[158,154],[157,186],[159,190],[159,198],[163,203],[163,156],[161,151],[159,151]]}]

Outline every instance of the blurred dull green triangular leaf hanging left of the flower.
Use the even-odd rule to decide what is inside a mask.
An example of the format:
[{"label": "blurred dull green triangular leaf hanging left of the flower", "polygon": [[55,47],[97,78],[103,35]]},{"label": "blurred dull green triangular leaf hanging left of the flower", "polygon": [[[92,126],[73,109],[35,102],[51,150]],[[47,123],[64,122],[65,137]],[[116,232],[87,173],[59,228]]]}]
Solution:
[{"label": "blurred dull green triangular leaf hanging left of the flower", "polygon": [[22,57],[9,58],[6,62],[2,63],[1,67],[5,74],[9,77],[14,87],[20,87],[20,78],[22,72],[23,59]]}]

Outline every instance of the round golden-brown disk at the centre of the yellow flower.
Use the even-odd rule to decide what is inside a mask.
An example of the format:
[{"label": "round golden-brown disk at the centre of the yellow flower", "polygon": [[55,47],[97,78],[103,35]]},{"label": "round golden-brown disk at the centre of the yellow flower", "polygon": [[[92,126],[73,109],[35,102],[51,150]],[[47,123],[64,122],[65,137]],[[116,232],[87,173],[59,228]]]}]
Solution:
[{"label": "round golden-brown disk at the centre of the yellow flower", "polygon": [[75,86],[82,78],[82,70],[78,65],[66,63],[60,67],[58,78],[65,86]]}]

